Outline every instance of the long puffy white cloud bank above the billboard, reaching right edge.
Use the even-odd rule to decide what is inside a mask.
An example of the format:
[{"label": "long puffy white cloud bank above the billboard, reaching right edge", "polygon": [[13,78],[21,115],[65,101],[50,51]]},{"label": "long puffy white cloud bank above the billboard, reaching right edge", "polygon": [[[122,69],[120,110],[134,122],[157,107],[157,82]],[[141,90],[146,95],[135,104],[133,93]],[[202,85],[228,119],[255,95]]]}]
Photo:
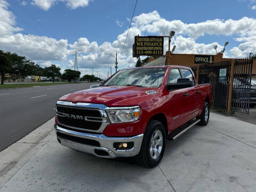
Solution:
[{"label": "long puffy white cloud bank above the billboard, reaching right edge", "polygon": [[[143,22],[144,21],[144,22]],[[169,35],[174,30],[176,35],[188,35],[191,38],[208,35],[245,35],[256,22],[253,18],[243,17],[239,20],[207,20],[198,23],[184,23],[180,20],[167,21],[157,11],[134,17],[132,25],[152,34]]]}]

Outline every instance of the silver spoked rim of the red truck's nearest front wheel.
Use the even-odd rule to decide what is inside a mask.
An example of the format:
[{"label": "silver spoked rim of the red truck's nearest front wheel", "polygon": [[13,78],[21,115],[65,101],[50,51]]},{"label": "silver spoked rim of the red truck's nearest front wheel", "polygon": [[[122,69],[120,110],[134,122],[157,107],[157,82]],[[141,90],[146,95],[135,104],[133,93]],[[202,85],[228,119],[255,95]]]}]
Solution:
[{"label": "silver spoked rim of the red truck's nearest front wheel", "polygon": [[163,134],[160,130],[154,131],[149,145],[149,153],[153,159],[157,159],[163,148]]}]

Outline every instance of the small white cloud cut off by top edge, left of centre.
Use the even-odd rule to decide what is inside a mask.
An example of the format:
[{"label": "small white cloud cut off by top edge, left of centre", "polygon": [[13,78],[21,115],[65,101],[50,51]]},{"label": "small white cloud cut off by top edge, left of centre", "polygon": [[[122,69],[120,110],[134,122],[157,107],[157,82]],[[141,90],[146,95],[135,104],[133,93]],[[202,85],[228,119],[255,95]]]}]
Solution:
[{"label": "small white cloud cut off by top edge, left of centre", "polygon": [[88,6],[90,1],[93,0],[33,0],[31,4],[47,11],[57,2],[65,2],[70,9],[77,9],[78,7]]}]

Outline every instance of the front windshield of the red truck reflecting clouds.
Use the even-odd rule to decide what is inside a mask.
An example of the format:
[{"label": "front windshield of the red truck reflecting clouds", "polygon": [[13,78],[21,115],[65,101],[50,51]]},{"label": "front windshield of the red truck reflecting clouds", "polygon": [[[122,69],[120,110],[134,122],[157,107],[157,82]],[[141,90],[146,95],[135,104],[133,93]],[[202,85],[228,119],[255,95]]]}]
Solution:
[{"label": "front windshield of the red truck reflecting clouds", "polygon": [[103,86],[135,85],[139,87],[159,87],[162,84],[165,68],[125,69],[116,73]]}]

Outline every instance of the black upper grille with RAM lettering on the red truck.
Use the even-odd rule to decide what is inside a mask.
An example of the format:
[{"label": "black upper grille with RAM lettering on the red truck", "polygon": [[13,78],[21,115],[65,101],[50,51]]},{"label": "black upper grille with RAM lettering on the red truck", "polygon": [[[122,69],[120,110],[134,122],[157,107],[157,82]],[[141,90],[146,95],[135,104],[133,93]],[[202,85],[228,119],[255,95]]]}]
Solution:
[{"label": "black upper grille with RAM lettering on the red truck", "polygon": [[77,131],[97,131],[102,123],[106,122],[100,111],[96,109],[57,106],[56,115],[59,124],[77,129]]}]

